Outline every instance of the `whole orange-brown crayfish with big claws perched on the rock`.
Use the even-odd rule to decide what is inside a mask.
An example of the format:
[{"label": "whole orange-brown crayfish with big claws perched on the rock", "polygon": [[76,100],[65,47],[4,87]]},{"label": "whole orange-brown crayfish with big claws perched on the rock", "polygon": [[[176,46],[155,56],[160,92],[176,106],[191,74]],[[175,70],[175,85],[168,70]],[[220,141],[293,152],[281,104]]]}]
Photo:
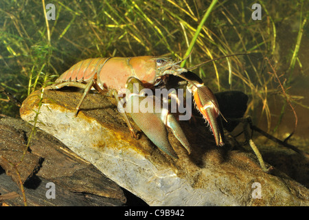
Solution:
[{"label": "whole orange-brown crayfish with big claws perched on the rock", "polygon": [[[76,115],[78,115],[82,101],[92,87],[100,94],[113,96],[119,103],[122,91],[126,91],[126,87],[129,90],[132,89],[134,83],[140,85],[140,88],[143,89],[162,84],[166,78],[165,76],[168,75],[183,78],[181,74],[187,72],[187,69],[180,67],[178,65],[180,62],[175,63],[171,58],[155,56],[89,58],[73,65],[56,80],[54,85],[45,87],[45,89],[60,89],[66,86],[84,89],[82,98],[76,107]],[[203,83],[192,80],[188,80],[187,89],[192,92],[198,111],[209,122],[216,145],[222,146],[223,134],[218,125],[220,110],[214,94]],[[144,97],[141,94],[127,96],[127,98],[133,98],[134,96],[149,103],[158,101],[155,96]],[[168,155],[178,157],[168,142],[165,126],[172,129],[174,135],[190,153],[190,144],[187,142],[176,119],[167,109],[163,108],[161,111],[163,113],[133,113],[131,115],[149,139]],[[137,137],[130,120],[128,120],[126,111],[122,111],[122,115],[124,115],[124,120],[128,124],[131,135]],[[152,122],[155,126],[150,129],[148,124]]]}]

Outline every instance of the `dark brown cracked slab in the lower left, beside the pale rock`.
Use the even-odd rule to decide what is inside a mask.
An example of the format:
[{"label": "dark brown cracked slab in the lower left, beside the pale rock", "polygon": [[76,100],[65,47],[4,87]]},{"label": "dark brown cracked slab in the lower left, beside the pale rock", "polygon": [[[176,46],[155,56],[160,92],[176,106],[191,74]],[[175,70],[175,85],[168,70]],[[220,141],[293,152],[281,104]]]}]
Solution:
[{"label": "dark brown cracked slab in the lower left, beside the pale rock", "polygon": [[[44,131],[33,133],[27,148],[32,129],[20,119],[0,119],[0,166],[6,173],[0,175],[0,200],[2,195],[16,192],[19,197],[3,197],[5,203],[23,205],[20,177],[31,206],[121,206],[126,202],[115,182]],[[55,184],[56,199],[45,197],[48,182]]]}]

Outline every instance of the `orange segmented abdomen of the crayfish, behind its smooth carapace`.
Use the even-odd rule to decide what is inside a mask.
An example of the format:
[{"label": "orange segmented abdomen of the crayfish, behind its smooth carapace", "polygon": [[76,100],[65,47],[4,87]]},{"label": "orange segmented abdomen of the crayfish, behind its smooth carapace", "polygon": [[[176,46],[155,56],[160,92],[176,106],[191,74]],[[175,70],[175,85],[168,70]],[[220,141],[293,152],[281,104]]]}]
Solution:
[{"label": "orange segmented abdomen of the crayfish, behind its smooth carapace", "polygon": [[65,81],[87,83],[95,77],[96,73],[100,72],[107,59],[108,58],[89,58],[80,61],[64,72],[55,83],[62,83]]}]

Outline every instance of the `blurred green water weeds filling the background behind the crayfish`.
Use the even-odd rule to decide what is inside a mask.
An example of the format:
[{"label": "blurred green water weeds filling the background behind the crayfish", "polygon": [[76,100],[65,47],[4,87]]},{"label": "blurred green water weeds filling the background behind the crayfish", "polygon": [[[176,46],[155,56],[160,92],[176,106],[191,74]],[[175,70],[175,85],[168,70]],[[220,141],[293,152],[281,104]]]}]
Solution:
[{"label": "blurred green water weeds filling the background behind the crayfish", "polygon": [[[55,5],[56,19],[47,22],[43,5],[48,3]],[[264,57],[278,75],[285,74],[281,78],[282,82],[287,79],[285,88],[293,86],[295,71],[302,67],[299,48],[309,34],[308,1],[258,1],[260,21],[251,19],[253,3],[218,1],[199,27],[211,1],[1,0],[0,91],[24,100],[42,87],[46,76],[52,82],[85,58],[163,55],[181,59],[199,27],[185,67],[229,54],[253,54],[222,58],[194,72],[213,91],[244,91],[250,96],[249,114],[254,117],[260,111],[270,129],[269,100],[280,99],[283,107],[286,102],[268,74],[271,67]],[[290,34],[277,30],[282,25]],[[282,41],[286,35],[289,39]],[[0,114],[19,115],[19,108],[7,102],[4,94],[0,98]]]}]

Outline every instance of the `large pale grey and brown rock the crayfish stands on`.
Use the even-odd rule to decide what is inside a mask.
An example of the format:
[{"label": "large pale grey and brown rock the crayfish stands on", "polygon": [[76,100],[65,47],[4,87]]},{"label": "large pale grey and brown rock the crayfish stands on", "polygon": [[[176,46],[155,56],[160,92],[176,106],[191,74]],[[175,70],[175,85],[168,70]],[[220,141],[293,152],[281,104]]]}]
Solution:
[{"label": "large pale grey and brown rock the crayfish stands on", "polygon": [[[23,120],[34,122],[39,96],[35,91],[23,102]],[[150,206],[309,205],[308,188],[279,170],[264,173],[251,153],[217,147],[205,124],[181,123],[191,155],[170,132],[179,155],[174,159],[143,133],[139,140],[131,137],[111,98],[88,94],[75,118],[81,96],[45,91],[36,125]]]}]

